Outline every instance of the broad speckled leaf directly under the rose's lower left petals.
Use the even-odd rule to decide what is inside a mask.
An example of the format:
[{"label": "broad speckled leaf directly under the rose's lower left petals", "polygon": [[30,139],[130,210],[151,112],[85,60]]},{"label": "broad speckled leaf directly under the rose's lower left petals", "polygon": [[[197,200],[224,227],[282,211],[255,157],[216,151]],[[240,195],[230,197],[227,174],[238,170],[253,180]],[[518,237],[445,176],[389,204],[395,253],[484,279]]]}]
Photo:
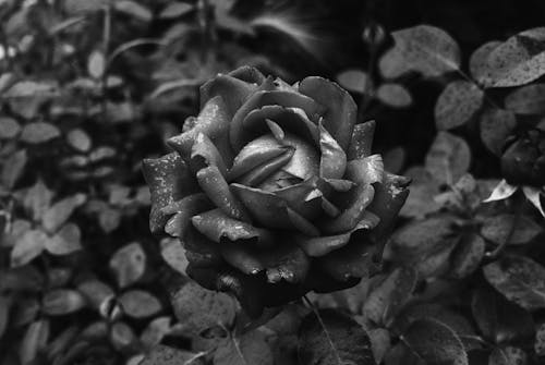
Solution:
[{"label": "broad speckled leaf directly under the rose's lower left petals", "polygon": [[237,313],[237,303],[231,296],[204,289],[194,282],[178,290],[171,302],[178,320],[193,336],[218,324],[230,328]]}]

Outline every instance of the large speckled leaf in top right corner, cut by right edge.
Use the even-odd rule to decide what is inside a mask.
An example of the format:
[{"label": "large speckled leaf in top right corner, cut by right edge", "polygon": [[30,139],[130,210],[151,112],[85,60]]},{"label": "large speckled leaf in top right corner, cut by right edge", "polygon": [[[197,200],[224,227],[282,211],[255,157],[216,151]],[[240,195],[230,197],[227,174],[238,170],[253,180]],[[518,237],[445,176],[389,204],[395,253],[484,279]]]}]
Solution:
[{"label": "large speckled leaf in top right corner, cut by right edge", "polygon": [[528,84],[545,74],[545,27],[519,33],[497,46],[487,58],[486,87]]}]

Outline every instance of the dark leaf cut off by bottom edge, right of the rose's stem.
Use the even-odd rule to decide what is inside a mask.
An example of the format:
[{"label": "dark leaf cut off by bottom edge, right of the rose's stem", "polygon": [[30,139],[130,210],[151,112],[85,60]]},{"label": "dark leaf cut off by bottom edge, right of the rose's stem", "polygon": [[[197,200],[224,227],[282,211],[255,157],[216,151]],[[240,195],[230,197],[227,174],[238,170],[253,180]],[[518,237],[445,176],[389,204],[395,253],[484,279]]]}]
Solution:
[{"label": "dark leaf cut off by bottom edge, right of the rose's stem", "polygon": [[403,333],[402,340],[427,365],[468,365],[468,354],[458,334],[435,319],[419,319]]}]

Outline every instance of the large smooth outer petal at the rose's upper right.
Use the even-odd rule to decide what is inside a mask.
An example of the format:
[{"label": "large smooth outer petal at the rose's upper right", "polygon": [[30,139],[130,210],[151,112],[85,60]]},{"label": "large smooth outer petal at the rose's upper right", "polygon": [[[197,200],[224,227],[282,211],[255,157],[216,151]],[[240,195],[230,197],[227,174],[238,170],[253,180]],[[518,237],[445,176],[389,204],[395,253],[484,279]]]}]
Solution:
[{"label": "large smooth outer petal at the rose's upper right", "polygon": [[304,78],[299,84],[299,92],[327,108],[324,125],[339,146],[347,150],[358,113],[350,94],[336,83],[317,76]]}]

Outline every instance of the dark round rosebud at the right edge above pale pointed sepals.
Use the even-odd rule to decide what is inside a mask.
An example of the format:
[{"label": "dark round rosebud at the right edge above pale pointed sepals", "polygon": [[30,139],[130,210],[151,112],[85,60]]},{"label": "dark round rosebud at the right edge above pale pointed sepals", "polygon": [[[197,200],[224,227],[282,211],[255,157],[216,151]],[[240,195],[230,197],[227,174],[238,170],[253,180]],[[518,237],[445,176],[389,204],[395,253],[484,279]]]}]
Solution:
[{"label": "dark round rosebud at the right edge above pale pointed sepals", "polygon": [[508,141],[501,155],[501,173],[512,185],[545,185],[545,132],[526,131]]}]

